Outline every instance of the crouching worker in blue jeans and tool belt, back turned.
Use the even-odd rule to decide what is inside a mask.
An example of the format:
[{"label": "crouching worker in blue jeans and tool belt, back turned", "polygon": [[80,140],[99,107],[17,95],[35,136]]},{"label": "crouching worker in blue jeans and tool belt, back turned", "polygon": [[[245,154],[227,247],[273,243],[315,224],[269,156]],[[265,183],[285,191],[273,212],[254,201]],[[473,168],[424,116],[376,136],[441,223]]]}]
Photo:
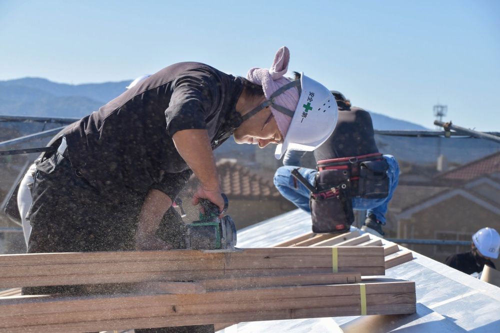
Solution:
[{"label": "crouching worker in blue jeans and tool belt, back turned", "polygon": [[361,229],[383,237],[382,226],[397,186],[399,166],[393,156],[378,153],[370,114],[351,107],[340,92],[331,93],[338,106],[338,122],[331,136],[314,150],[318,170],[297,170],[314,188],[308,189],[291,174],[305,154],[300,150],[286,151],[284,166],[274,175],[274,185],[298,208],[308,213],[312,208],[313,232],[348,231],[354,220],[352,210],[366,210]]}]

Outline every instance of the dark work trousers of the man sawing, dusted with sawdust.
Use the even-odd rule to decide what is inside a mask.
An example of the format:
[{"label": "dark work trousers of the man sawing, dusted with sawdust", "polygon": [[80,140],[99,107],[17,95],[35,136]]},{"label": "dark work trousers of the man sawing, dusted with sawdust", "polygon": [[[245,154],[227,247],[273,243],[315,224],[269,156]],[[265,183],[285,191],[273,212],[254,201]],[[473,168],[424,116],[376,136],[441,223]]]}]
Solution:
[{"label": "dark work trousers of the man sawing, dusted with sawdust", "polygon": [[[133,251],[135,228],[147,193],[130,190],[103,195],[59,153],[42,160],[32,190],[31,235],[27,253]],[[157,236],[185,248],[184,224],[170,208]],[[126,274],[126,272],[123,272]],[[22,288],[23,295],[91,295],[130,292],[131,284]],[[139,329],[137,333],[213,333],[213,325]]]}]

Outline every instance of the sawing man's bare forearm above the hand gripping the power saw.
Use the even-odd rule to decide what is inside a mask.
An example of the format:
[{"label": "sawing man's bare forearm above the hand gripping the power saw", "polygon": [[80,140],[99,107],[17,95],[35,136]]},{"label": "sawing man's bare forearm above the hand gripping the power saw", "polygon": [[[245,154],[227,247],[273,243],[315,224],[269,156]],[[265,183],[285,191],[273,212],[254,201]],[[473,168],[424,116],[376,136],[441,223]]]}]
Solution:
[{"label": "sawing man's bare forearm above the hand gripping the power saw", "polygon": [[186,129],[173,137],[175,148],[206,190],[219,190],[215,160],[208,133],[204,129]]}]

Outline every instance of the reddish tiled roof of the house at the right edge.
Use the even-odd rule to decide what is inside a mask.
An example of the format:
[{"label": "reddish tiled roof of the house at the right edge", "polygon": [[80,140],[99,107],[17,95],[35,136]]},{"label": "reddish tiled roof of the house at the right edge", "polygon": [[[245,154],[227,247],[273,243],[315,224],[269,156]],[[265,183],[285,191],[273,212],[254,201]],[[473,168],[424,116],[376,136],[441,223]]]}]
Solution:
[{"label": "reddish tiled roof of the house at the right edge", "polygon": [[488,155],[437,175],[436,179],[471,180],[500,171],[500,152]]}]

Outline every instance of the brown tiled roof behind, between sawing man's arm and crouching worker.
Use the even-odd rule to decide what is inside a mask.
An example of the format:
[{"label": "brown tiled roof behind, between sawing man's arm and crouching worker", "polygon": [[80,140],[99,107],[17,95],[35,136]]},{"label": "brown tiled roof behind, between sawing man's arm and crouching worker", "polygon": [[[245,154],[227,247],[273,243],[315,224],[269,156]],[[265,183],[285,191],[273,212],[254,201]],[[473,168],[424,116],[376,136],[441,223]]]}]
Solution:
[{"label": "brown tiled roof behind, between sawing man's arm and crouching worker", "polygon": [[[247,199],[281,199],[281,194],[274,187],[272,179],[265,179],[261,175],[252,173],[249,169],[232,161],[217,163],[222,192],[232,198]],[[189,188],[195,185],[191,177]]]}]

